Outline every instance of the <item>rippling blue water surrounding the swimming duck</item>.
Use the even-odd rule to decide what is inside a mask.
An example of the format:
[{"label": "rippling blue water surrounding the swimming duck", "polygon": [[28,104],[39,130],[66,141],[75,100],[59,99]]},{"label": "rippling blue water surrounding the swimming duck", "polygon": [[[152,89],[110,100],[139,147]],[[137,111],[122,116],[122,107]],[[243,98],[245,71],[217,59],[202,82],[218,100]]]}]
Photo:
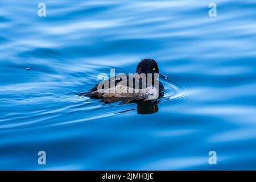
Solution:
[{"label": "rippling blue water surrounding the swimming duck", "polygon": [[[0,169],[256,169],[256,1],[210,2],[2,0]],[[77,95],[143,58],[158,101]]]}]

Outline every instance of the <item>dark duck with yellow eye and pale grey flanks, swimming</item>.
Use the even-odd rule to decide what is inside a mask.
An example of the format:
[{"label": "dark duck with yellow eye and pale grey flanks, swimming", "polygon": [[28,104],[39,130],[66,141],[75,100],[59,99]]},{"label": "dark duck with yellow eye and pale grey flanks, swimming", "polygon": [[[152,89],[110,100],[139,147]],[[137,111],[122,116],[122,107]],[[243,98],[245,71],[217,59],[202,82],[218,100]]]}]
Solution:
[{"label": "dark duck with yellow eye and pale grey flanks, swimming", "polygon": [[[159,78],[168,79],[167,76],[159,73],[158,64],[154,59],[142,59],[139,61],[136,68],[135,76],[132,78],[132,85],[129,85],[129,75],[124,77],[114,76],[108,80],[104,80],[96,84],[88,92],[80,93],[80,96],[86,96],[90,98],[104,98],[108,102],[117,102],[123,100],[123,103],[127,103],[133,100],[155,100],[163,96],[164,86],[162,82],[155,81],[155,76]],[[151,75],[150,75],[151,73]],[[144,75],[146,79],[139,78]],[[151,82],[148,82],[148,76],[151,76]],[[135,86],[135,79],[138,77],[138,84]],[[150,78],[149,78],[150,79]],[[156,84],[156,82],[158,84]],[[142,86],[142,85],[146,86]],[[128,85],[128,86],[127,86]],[[112,92],[112,90],[114,90]]]}]

